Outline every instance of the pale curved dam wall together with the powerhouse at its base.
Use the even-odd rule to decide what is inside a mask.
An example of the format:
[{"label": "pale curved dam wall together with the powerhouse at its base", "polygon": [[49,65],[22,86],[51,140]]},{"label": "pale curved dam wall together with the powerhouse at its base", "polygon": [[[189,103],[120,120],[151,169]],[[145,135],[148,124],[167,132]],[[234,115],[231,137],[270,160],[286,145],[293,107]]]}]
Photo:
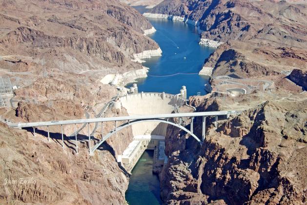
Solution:
[{"label": "pale curved dam wall together with the powerhouse at its base", "polygon": [[[185,104],[186,99],[166,93],[137,93],[119,98],[129,116],[172,113]],[[133,141],[120,156],[120,162],[127,171],[132,171],[145,149],[154,150],[157,157],[154,164],[164,164],[164,140],[167,123],[158,121],[131,123]]]}]

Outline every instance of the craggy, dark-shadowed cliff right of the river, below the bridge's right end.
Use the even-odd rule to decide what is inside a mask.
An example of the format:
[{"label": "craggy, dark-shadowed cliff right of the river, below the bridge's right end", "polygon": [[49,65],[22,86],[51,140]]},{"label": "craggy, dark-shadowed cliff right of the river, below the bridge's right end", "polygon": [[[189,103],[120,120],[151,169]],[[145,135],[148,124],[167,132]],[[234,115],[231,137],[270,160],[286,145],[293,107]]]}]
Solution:
[{"label": "craggy, dark-shadowed cliff right of the river, below the bridge's right end", "polygon": [[[202,102],[197,109],[219,109],[216,100]],[[217,130],[208,126],[203,145],[169,130],[168,138],[181,143],[177,149],[166,146],[169,161],[160,174],[164,202],[306,203],[306,105],[264,102],[225,120]],[[195,133],[201,136],[201,122],[196,123]]]}]

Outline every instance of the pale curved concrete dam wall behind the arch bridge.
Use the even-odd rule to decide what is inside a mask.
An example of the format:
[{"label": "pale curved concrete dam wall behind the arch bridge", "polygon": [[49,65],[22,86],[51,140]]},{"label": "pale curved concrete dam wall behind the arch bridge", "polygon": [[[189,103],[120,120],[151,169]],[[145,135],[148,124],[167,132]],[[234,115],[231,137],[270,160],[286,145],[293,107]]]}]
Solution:
[{"label": "pale curved concrete dam wall behind the arch bridge", "polygon": [[[120,99],[130,116],[172,113],[184,105],[185,99],[166,93],[138,93],[123,96]],[[166,134],[166,123],[144,122],[132,125],[134,136]]]}]

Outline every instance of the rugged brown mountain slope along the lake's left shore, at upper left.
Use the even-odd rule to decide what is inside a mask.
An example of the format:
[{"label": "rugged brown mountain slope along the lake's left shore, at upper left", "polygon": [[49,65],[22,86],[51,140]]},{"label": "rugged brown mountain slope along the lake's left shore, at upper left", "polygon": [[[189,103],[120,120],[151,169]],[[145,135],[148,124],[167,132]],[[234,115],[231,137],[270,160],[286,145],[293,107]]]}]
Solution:
[{"label": "rugged brown mountain slope along the lake's left shore, at upper left", "polygon": [[[69,72],[103,70],[101,66],[105,66],[121,73],[142,68],[130,61],[134,54],[159,48],[143,35],[154,31],[149,21],[118,1],[33,0],[31,10],[15,12],[27,8],[27,3],[14,1],[1,7],[2,13],[10,12],[12,16],[0,16],[3,25],[10,25],[0,38],[3,46],[10,47],[2,53],[4,56],[14,53],[23,56],[21,60],[33,56],[32,61],[43,61],[45,67]],[[73,16],[67,16],[70,9],[76,11]],[[44,12],[33,18],[38,10]],[[63,66],[66,63],[74,66]]]}]

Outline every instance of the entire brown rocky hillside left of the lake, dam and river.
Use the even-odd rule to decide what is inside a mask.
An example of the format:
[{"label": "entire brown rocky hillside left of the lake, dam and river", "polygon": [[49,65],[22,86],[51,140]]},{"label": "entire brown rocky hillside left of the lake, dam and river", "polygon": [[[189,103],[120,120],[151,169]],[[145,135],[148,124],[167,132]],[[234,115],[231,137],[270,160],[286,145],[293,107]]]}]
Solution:
[{"label": "entire brown rocky hillside left of the lake, dam and river", "polygon": [[[152,25],[135,9],[117,0],[0,0],[0,76],[9,77],[12,107],[1,108],[2,122],[37,122],[94,118],[117,94],[102,84],[107,74],[143,69],[135,54],[159,46],[144,33]],[[128,78],[129,77],[129,78]],[[133,80],[136,76],[127,76]],[[126,115],[110,110],[108,116]],[[78,124],[77,128],[82,125]],[[90,131],[94,124],[90,124]],[[113,124],[105,124],[105,133]],[[132,139],[131,129],[118,133],[95,156],[88,156],[83,129],[79,153],[68,135],[73,126],[31,132],[0,124],[0,204],[124,204],[128,176],[116,156]],[[116,139],[125,140],[115,143]],[[101,130],[93,141],[101,139]],[[36,184],[3,184],[5,179],[33,179]]]}]

